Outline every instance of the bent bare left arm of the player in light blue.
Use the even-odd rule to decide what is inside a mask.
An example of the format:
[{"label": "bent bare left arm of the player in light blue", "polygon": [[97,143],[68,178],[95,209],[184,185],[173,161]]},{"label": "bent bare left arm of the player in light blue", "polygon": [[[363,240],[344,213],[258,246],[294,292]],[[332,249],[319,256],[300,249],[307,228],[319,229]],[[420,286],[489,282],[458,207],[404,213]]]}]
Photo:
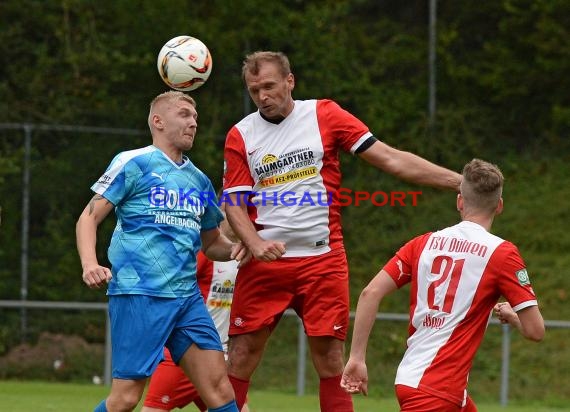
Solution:
[{"label": "bent bare left arm of the player in light blue", "polygon": [[75,228],[77,251],[83,268],[83,282],[90,288],[99,288],[107,284],[111,278],[109,268],[99,265],[97,261],[96,243],[97,227],[115,206],[103,196],[96,194],[91,198]]}]

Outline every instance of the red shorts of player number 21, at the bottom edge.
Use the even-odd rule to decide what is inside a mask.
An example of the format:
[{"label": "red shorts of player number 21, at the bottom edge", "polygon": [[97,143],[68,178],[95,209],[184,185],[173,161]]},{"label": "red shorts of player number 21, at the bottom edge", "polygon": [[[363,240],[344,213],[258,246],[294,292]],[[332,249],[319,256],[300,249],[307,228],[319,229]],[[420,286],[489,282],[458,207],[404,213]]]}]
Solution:
[{"label": "red shorts of player number 21, at the bottom edge", "polygon": [[396,396],[400,403],[400,412],[477,412],[477,407],[469,396],[463,407],[406,385],[396,385]]}]

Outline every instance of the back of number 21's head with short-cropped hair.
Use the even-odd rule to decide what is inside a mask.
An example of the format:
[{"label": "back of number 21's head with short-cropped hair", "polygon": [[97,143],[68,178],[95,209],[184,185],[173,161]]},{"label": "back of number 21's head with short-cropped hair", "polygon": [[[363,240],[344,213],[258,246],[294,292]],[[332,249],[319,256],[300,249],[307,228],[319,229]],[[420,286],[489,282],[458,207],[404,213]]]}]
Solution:
[{"label": "back of number 21's head with short-cropped hair", "polygon": [[493,212],[503,195],[505,178],[497,165],[473,159],[463,167],[460,185],[465,206]]}]

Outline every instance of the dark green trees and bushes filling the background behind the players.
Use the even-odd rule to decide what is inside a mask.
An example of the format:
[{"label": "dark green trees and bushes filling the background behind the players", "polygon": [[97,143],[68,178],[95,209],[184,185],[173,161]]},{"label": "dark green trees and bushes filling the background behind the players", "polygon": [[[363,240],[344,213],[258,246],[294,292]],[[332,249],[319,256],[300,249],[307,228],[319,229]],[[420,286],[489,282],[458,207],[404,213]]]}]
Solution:
[{"label": "dark green trees and bushes filling the background behind the players", "polygon": [[[210,80],[192,92],[200,120],[190,157],[215,186],[221,182],[224,135],[253,110],[241,81],[244,54],[283,50],[295,74],[296,98],[333,98],[381,140],[454,170],[473,157],[499,164],[507,178],[506,208],[494,231],[519,246],[545,317],[569,319],[569,3],[437,4],[438,111],[430,126],[426,1],[182,0],[173,5],[165,0],[117,0],[104,6],[91,0],[0,2],[0,55],[5,62],[0,65],[0,299],[19,299],[21,294],[24,154],[24,130],[2,125],[140,131],[133,136],[32,130],[28,298],[104,301],[103,291],[89,290],[81,282],[75,221],[91,197],[89,187],[111,158],[150,143],[148,104],[166,90],[156,72],[156,53],[166,40],[190,34],[208,45],[214,59]],[[343,187],[352,191],[421,191],[416,206],[364,202],[343,209],[355,304],[360,290],[404,242],[453,224],[458,216],[453,193],[405,184],[344,154],[342,171]],[[110,218],[100,228],[102,263],[113,223]],[[400,293],[389,297],[382,310],[405,312],[407,305]],[[4,354],[18,343],[19,322],[16,311],[2,310],[0,315]],[[66,316],[34,320],[30,339],[47,330],[102,342],[104,322],[98,314],[69,322]],[[269,368],[258,372],[256,385],[294,385],[282,384],[274,373],[291,372],[296,363],[294,354],[288,355],[295,335],[285,326],[284,335],[272,339],[270,348],[276,353],[264,360]],[[392,376],[386,371],[394,370],[403,344],[401,326],[382,326],[371,348],[378,359],[372,370],[385,394],[391,394]],[[517,353],[538,366],[538,359],[549,365],[537,373],[540,386],[553,391],[544,396],[565,393],[563,378],[556,378],[560,384],[548,378],[565,376],[557,372],[562,369],[557,361],[568,364],[566,354],[548,356],[564,341],[558,333],[550,340],[550,333],[545,345],[528,349],[536,353],[526,352],[526,342],[514,341]],[[493,339],[489,346],[485,341],[473,371],[472,389],[481,396],[497,390]],[[512,385],[516,396],[540,397],[519,378],[524,359],[515,357],[513,364],[519,371]],[[316,381],[314,374],[309,379]]]}]

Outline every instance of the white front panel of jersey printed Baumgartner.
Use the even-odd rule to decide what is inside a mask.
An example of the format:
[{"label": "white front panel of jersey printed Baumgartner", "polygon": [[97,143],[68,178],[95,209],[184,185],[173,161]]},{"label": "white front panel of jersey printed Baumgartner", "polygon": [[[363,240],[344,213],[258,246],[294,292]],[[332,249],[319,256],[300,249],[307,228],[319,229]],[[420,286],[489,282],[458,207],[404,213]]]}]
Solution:
[{"label": "white front panel of jersey printed Baumgartner", "polygon": [[316,104],[316,100],[296,101],[293,112],[279,124],[255,114],[236,125],[254,175],[250,202],[257,209],[256,223],[263,227],[259,235],[286,242],[286,257],[330,250],[328,197],[320,174],[324,148]]}]

